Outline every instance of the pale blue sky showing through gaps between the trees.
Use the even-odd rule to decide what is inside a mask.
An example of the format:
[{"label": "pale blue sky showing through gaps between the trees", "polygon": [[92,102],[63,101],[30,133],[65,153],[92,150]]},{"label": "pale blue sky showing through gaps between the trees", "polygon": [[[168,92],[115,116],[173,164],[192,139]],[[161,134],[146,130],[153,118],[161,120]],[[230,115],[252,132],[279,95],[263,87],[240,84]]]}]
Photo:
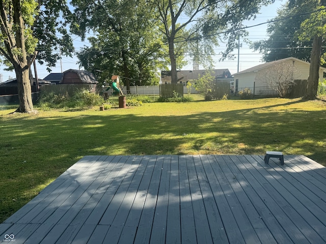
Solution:
[{"label": "pale blue sky showing through gaps between the trees", "polygon": [[[275,17],[277,15],[277,9],[281,7],[281,4],[284,4],[285,1],[277,0],[273,5],[269,5],[268,7],[263,7],[260,10],[260,14],[257,15],[257,18],[252,21],[247,21],[245,24],[247,26],[255,25],[258,23],[263,23],[268,21],[269,19]],[[266,28],[267,24],[260,25],[257,27],[248,28],[249,31],[249,39],[251,41],[257,41],[261,39],[265,39],[266,37]],[[74,39],[74,47],[75,50],[80,50],[81,47],[84,45],[88,45],[87,40],[82,42],[80,38],[77,36],[73,37]],[[240,39],[241,41],[241,39]],[[236,54],[236,58],[234,60],[225,60],[224,62],[220,63],[218,62],[218,59],[221,57],[218,53],[220,51],[223,51],[225,49],[225,44],[220,43],[219,47],[215,48],[216,55],[213,56],[215,60],[215,69],[229,69],[231,74],[236,73],[237,71],[237,50],[234,51],[234,54]],[[61,73],[61,69],[63,71],[68,69],[79,69],[77,65],[78,59],[76,57],[70,58],[70,57],[62,57],[62,62],[58,61],[57,66],[52,68],[53,73]],[[61,65],[62,63],[62,65]],[[240,48],[240,55],[239,55],[239,70],[245,70],[248,68],[251,68],[253,66],[261,64],[261,54],[257,52],[253,52],[251,49],[249,49],[248,45],[245,43],[242,44],[242,48]],[[6,81],[9,78],[15,78],[16,75],[14,72],[8,72],[4,71],[3,66],[0,66],[0,74],[2,75],[2,80]],[[189,64],[185,67],[183,67],[183,70],[191,70],[193,69],[193,64],[189,62]],[[34,76],[34,69],[32,67],[32,72]],[[37,64],[37,73],[38,77],[43,79],[45,76],[47,76],[49,73],[46,70],[46,67],[43,65]]]}]

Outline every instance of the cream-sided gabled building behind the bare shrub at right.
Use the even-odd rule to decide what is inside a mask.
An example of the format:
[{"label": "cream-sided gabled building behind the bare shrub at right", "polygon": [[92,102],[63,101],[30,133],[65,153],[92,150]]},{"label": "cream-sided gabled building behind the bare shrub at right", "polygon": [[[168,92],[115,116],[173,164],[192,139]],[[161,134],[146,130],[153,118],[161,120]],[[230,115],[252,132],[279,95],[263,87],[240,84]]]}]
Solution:
[{"label": "cream-sided gabled building behind the bare shrub at right", "polygon": [[[234,87],[233,92],[237,94],[240,90],[244,88],[249,88],[254,91],[255,95],[266,95],[266,94],[275,94],[275,91],[268,87],[265,82],[260,82],[256,80],[256,76],[259,72],[262,72],[265,69],[270,69],[274,67],[276,64],[290,63],[292,64],[297,71],[294,79],[298,80],[307,80],[309,76],[309,68],[310,64],[303,60],[288,57],[280,60],[276,60],[273,62],[268,62],[265,64],[257,65],[247,70],[243,70],[241,72],[233,74],[234,77]],[[320,67],[319,69],[319,77],[323,77],[323,73],[326,72],[326,69]]]}]

